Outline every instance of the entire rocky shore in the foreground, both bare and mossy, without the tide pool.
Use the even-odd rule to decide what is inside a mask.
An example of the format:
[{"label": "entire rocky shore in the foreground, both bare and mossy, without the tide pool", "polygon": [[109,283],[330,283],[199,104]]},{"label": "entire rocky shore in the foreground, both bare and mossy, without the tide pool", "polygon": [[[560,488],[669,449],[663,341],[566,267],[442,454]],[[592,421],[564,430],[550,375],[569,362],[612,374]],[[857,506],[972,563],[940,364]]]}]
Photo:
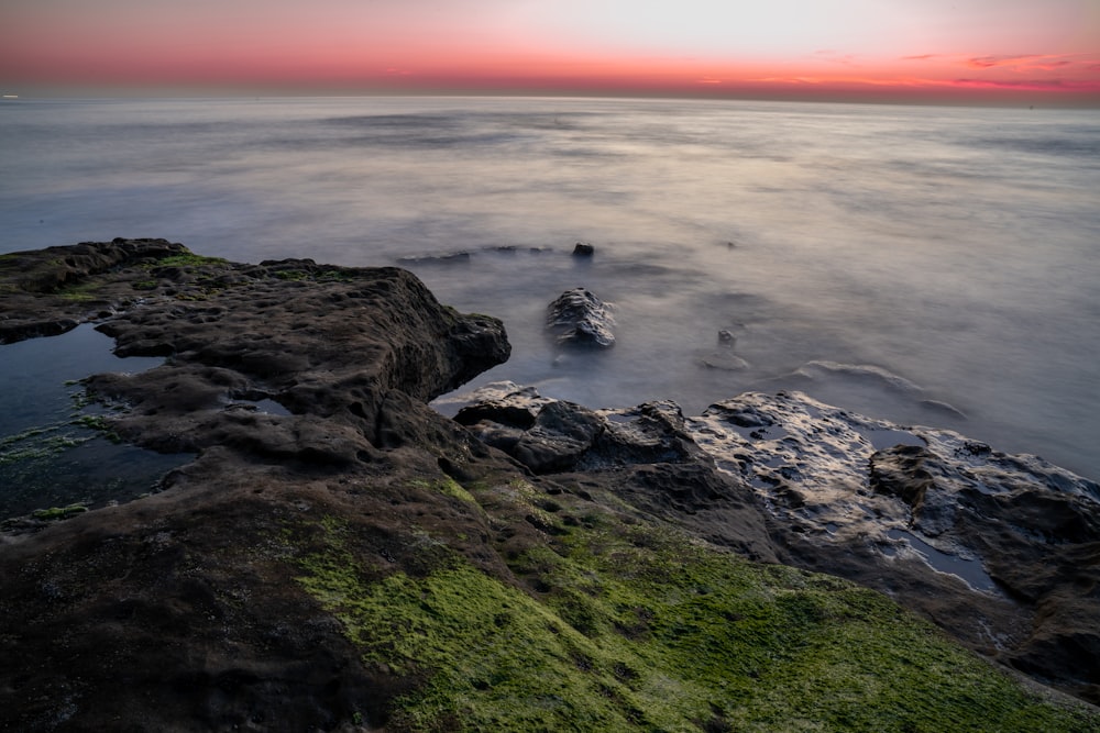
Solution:
[{"label": "entire rocky shore in the foreground, both bare and mossy, without the tide pool", "polygon": [[1037,458],[798,393],[451,420],[504,325],[405,270],[0,256],[0,343],[88,321],[166,359],[105,430],[196,458],[0,518],[2,730],[1100,730],[1100,488]]}]

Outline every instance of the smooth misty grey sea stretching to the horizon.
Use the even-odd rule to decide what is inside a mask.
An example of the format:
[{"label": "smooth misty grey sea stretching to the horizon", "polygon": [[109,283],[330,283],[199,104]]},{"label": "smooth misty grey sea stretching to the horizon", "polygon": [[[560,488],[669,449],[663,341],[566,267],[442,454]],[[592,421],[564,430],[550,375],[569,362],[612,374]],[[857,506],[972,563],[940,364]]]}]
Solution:
[{"label": "smooth misty grey sea stretching to the horizon", "polygon": [[[796,388],[1100,477],[1098,112],[19,100],[0,151],[0,252],[402,264],[505,320],[513,359],[475,384],[689,412]],[[543,336],[579,285],[615,306],[608,353]]]}]

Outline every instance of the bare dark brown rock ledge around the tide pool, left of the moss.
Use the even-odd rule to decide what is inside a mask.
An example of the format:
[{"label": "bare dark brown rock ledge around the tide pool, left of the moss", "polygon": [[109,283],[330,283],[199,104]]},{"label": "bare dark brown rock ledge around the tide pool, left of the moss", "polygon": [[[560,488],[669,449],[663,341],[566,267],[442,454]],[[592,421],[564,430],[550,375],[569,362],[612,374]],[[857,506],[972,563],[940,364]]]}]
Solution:
[{"label": "bare dark brown rock ledge around the tide pool, left of the moss", "polygon": [[[169,255],[184,264],[156,267]],[[514,469],[425,401],[507,357],[499,321],[440,306],[404,270],[237,265],[163,241],[16,253],[0,268],[6,337],[108,302],[100,329],[120,353],[170,355],[88,388],[129,406],[111,418],[123,437],[198,453],[161,493],[0,534],[0,729],[384,726],[416,679],[364,666],[295,578],[331,542],[327,522],[410,574],[426,557],[402,549],[418,546],[414,527],[486,534],[471,507],[421,487]],[[89,298],[58,292],[74,284]],[[293,414],[232,409],[249,395]],[[470,562],[501,573],[469,544]]]}]

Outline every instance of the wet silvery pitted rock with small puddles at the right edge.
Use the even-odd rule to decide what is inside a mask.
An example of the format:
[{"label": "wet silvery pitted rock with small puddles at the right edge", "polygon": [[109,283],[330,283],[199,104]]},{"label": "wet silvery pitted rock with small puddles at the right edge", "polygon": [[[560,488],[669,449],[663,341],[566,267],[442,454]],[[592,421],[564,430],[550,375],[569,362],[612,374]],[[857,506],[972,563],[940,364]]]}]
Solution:
[{"label": "wet silvery pitted rock with small puddles at the right edge", "polygon": [[[1100,656],[1080,652],[1100,643],[1094,482],[952,431],[906,429],[799,393],[743,395],[686,422],[769,507],[782,562],[888,592],[971,647],[1100,700]],[[923,445],[877,451],[883,435]],[[953,574],[958,563],[989,589]]]}]

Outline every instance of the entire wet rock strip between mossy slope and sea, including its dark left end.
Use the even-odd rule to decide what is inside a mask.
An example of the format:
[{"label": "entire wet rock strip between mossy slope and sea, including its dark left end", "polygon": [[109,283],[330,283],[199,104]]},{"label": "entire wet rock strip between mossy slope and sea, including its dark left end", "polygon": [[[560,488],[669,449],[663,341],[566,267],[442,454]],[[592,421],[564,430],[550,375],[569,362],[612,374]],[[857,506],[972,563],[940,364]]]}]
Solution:
[{"label": "entire wet rock strip between mossy slope and sea, including its dark left end", "polygon": [[536,473],[603,476],[712,542],[882,590],[983,654],[1100,699],[1100,487],[1088,479],[796,392],[694,418],[508,384],[484,395],[455,419]]}]

